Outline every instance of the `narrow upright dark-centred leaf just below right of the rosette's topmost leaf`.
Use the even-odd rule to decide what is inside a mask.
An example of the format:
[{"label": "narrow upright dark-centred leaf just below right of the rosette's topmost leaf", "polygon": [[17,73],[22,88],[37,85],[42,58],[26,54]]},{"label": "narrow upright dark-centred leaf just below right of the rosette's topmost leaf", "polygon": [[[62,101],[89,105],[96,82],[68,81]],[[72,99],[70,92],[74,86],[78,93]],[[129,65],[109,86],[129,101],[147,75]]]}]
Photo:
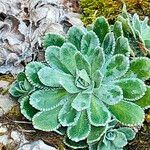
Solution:
[{"label": "narrow upright dark-centred leaf just below right of the rosette's topmost leaf", "polygon": [[115,50],[115,38],[112,32],[106,34],[104,41],[102,43],[104,49],[105,57],[109,58],[110,55],[114,53]]}]

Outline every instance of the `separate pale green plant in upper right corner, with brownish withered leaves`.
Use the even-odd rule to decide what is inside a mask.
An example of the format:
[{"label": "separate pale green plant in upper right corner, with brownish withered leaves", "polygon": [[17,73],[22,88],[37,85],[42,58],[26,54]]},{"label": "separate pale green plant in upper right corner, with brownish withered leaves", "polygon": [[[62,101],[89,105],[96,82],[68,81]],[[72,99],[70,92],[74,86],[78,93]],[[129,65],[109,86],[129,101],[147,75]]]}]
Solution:
[{"label": "separate pale green plant in upper right corner, with brownish withered leaves", "polygon": [[123,6],[122,14],[118,16],[115,28],[128,38],[134,56],[150,56],[150,26],[148,17],[141,20],[138,14],[133,16]]}]

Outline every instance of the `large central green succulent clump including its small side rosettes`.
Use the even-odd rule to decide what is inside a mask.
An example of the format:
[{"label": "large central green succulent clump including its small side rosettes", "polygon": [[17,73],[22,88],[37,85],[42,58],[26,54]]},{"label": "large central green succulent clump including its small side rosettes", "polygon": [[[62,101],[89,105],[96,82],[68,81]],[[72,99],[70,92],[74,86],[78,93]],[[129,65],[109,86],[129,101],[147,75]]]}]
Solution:
[{"label": "large central green succulent clump including its small side rosettes", "polygon": [[[22,114],[35,129],[65,131],[64,142],[74,149],[121,150],[132,139],[124,130],[142,125],[150,106],[144,83],[150,59],[130,61],[128,39],[104,17],[88,30],[71,27],[66,37],[47,34],[43,45],[45,62],[27,64],[10,88]],[[112,119],[128,127],[110,125]]]}]

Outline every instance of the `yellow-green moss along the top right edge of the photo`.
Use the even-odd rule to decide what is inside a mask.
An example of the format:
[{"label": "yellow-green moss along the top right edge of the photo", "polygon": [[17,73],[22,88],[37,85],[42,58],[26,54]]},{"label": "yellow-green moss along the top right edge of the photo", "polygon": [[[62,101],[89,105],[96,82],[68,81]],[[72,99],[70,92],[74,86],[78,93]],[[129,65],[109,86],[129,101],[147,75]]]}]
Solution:
[{"label": "yellow-green moss along the top right edge of the photo", "polygon": [[[150,16],[150,0],[124,0],[130,13]],[[122,0],[80,0],[82,21],[85,25],[92,23],[98,16],[105,16],[114,21],[122,10]]]}]

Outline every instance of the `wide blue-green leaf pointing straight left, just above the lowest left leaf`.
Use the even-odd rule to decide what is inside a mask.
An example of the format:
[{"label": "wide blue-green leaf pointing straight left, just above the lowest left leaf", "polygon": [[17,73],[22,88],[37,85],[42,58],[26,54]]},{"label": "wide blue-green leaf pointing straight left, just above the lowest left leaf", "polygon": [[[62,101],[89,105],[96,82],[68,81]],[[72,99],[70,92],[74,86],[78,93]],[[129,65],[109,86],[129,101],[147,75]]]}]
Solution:
[{"label": "wide blue-green leaf pointing straight left, just above the lowest left leaf", "polygon": [[30,104],[38,110],[48,111],[62,104],[66,95],[63,89],[39,90],[31,94]]}]

